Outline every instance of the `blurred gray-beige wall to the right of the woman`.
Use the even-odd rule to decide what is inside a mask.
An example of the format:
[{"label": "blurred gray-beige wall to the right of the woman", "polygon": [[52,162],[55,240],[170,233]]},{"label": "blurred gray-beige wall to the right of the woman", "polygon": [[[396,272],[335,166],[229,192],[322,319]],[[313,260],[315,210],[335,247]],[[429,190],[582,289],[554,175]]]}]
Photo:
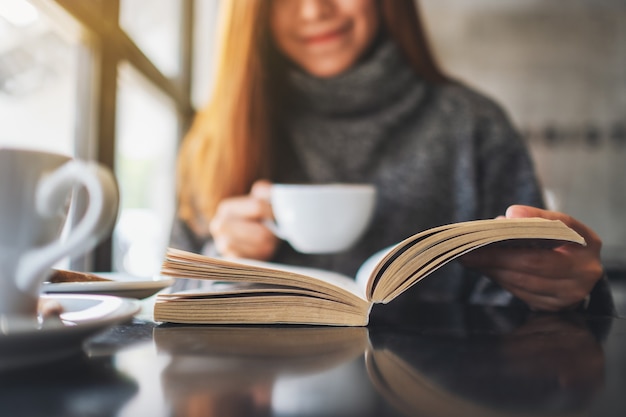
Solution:
[{"label": "blurred gray-beige wall to the right of the woman", "polygon": [[500,102],[550,207],[626,266],[626,1],[421,0],[451,75]]}]

